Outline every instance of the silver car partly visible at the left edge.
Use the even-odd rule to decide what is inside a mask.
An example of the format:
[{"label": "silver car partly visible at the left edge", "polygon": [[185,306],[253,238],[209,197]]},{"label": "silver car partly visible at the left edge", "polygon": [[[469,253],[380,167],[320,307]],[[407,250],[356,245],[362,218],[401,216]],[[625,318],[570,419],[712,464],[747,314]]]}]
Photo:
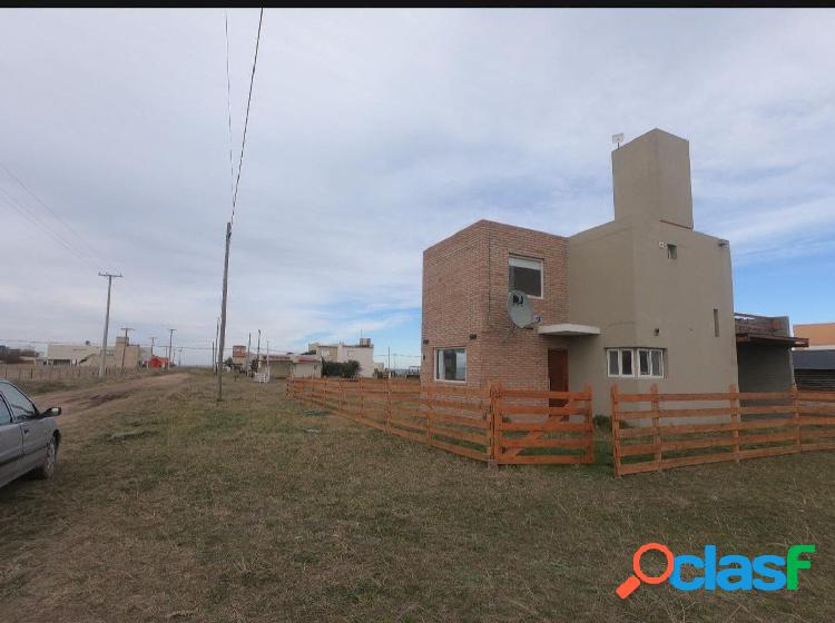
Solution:
[{"label": "silver car partly visible at the left edge", "polygon": [[23,392],[0,379],[0,486],[30,472],[52,477],[61,443],[57,415],[61,407],[40,412]]}]

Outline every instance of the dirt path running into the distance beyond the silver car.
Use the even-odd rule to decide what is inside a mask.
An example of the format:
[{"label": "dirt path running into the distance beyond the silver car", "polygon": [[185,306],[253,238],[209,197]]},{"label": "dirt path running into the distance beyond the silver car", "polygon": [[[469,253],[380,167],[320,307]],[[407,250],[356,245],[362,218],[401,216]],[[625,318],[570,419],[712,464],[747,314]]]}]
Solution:
[{"label": "dirt path running into the distance beyond the silver car", "polygon": [[170,389],[186,382],[188,373],[174,373],[159,376],[131,378],[119,383],[82,387],[78,389],[61,389],[47,394],[35,394],[32,398],[39,408],[51,406],[61,407],[60,421],[63,425],[75,422],[86,411],[94,409],[107,403],[116,403],[129,398],[137,392],[145,389]]}]

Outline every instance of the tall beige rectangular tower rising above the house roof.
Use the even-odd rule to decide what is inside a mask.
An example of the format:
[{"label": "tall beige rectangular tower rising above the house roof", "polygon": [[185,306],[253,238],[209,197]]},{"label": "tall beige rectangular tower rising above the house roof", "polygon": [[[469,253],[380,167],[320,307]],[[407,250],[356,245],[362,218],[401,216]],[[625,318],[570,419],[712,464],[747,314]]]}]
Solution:
[{"label": "tall beige rectangular tower rising above the house roof", "polygon": [[611,152],[615,219],[633,216],[692,229],[690,144],[655,129]]}]

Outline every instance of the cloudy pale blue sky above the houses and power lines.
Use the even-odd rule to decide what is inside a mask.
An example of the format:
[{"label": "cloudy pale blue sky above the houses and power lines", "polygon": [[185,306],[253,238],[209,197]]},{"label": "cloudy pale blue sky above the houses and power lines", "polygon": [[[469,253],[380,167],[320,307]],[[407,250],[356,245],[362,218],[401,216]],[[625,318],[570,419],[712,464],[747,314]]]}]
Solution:
[{"label": "cloudy pale blue sky above the houses and power lines", "polygon": [[[225,13],[0,12],[0,344],[212,357],[232,204]],[[230,10],[237,165],[258,11]],[[355,342],[415,365],[422,251],[481,218],[612,218],[611,136],[690,141],[696,229],[738,312],[835,320],[835,11],[264,13],[227,346]],[[22,185],[21,185],[22,182]],[[255,337],[253,338],[255,339]]]}]

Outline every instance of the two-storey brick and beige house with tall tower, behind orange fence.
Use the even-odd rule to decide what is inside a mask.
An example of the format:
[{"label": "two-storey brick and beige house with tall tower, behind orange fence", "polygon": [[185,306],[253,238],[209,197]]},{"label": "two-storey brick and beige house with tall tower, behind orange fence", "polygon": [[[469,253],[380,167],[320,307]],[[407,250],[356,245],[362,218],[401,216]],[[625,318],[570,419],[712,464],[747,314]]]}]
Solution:
[{"label": "two-storey brick and beige house with tall tower, behind orange fence", "polygon": [[[424,379],[580,390],[737,384],[730,248],[694,229],[687,140],[651,130],[611,154],[615,219],[573,236],[480,220],[423,254]],[[521,290],[538,322],[514,326]]]}]

